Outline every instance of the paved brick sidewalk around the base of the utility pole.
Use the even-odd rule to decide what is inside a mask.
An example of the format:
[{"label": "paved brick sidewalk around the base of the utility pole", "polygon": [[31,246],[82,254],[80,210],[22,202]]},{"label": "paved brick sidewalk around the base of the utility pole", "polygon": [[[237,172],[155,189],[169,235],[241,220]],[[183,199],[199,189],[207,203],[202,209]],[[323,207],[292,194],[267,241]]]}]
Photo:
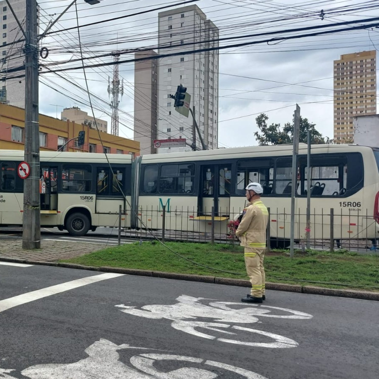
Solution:
[{"label": "paved brick sidewalk around the base of the utility pole", "polygon": [[0,240],[0,259],[19,258],[45,262],[56,262],[60,259],[79,257],[103,249],[101,244],[87,244],[60,241],[41,241],[41,249],[23,250],[22,238]]}]

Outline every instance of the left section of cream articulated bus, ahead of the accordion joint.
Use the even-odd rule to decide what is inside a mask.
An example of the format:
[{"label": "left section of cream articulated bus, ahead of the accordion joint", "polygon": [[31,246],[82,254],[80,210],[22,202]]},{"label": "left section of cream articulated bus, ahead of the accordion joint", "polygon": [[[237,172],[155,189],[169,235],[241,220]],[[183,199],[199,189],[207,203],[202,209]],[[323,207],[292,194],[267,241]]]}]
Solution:
[{"label": "left section of cream articulated bus, ahead of the accordion joint", "polygon": [[[17,167],[24,152],[0,150],[0,224],[22,225],[23,179]],[[132,158],[108,154],[41,151],[41,226],[85,235],[97,226],[118,226],[119,206],[130,202]],[[126,195],[126,199],[120,191]],[[130,214],[122,225],[130,225]]]}]

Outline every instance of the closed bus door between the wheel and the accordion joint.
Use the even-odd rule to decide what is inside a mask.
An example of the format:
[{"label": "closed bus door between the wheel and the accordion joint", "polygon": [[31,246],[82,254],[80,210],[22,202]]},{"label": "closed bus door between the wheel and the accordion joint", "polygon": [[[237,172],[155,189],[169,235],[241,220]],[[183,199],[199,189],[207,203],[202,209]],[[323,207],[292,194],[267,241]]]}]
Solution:
[{"label": "closed bus door between the wheel and the accordion joint", "polygon": [[[98,167],[96,173],[96,208],[97,226],[118,226],[119,207],[125,210],[125,199],[120,188],[125,191],[125,169],[109,166]],[[125,224],[122,221],[122,226]]]}]

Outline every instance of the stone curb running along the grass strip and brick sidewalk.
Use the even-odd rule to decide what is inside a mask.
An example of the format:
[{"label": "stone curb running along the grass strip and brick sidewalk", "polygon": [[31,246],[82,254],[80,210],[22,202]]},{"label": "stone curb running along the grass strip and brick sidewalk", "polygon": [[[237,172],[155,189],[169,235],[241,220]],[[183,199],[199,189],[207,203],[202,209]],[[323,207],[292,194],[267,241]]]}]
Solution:
[{"label": "stone curb running along the grass strip and brick sidewalk", "polygon": [[[45,261],[34,261],[34,260],[28,260],[28,259],[6,258],[6,257],[0,257],[0,262],[1,261],[13,262],[13,263],[26,263],[28,265],[74,268],[74,269],[89,270],[89,271],[100,271],[100,272],[105,272],[105,273],[147,276],[147,277],[164,278],[164,279],[188,280],[191,282],[215,283],[215,284],[232,285],[232,286],[238,286],[238,287],[251,286],[249,280],[244,280],[244,279],[220,278],[220,277],[214,277],[214,276],[202,276],[202,275],[193,275],[193,274],[166,273],[162,271],[149,271],[149,270],[118,268],[118,267],[108,267],[108,266],[103,266],[103,267],[82,266],[82,265],[77,265],[75,263],[45,262]],[[266,289],[275,290],[275,291],[287,291],[287,292],[312,294],[312,295],[338,296],[341,298],[379,301],[379,292],[370,292],[370,291],[338,290],[335,288],[302,286],[302,285],[296,285],[296,284],[271,283],[271,282],[266,282]]]}]

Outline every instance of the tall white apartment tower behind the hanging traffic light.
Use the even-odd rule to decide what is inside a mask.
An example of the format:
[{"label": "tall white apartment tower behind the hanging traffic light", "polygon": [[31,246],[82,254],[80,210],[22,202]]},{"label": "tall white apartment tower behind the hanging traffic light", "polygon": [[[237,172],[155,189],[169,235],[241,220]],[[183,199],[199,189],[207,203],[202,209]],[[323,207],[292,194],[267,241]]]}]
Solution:
[{"label": "tall white apartment tower behind the hanging traffic light", "polygon": [[[191,95],[191,107],[208,149],[218,147],[218,51],[184,54],[190,50],[218,47],[218,28],[196,5],[158,14],[158,54],[180,53],[159,59],[158,139],[186,138],[193,141],[191,114],[175,111],[174,99],[182,84]],[[195,43],[194,43],[195,42]],[[189,44],[189,45],[186,45]],[[201,149],[198,136],[196,145]],[[159,153],[191,150],[186,147],[159,148]]]}]

